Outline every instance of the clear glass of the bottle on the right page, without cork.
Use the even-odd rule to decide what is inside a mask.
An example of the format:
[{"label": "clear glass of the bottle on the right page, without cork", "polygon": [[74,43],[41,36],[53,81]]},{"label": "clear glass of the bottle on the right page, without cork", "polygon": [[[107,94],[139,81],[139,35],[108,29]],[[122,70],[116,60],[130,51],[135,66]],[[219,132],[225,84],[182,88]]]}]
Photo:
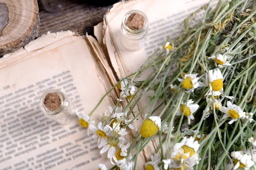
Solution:
[{"label": "clear glass of the bottle on the right page, without cork", "polygon": [[[144,17],[144,25],[142,28],[138,30],[132,30],[127,26],[127,23],[126,23],[128,17],[133,13],[140,14]],[[147,16],[142,11],[138,11],[138,10],[132,10],[127,12],[122,19],[121,32],[122,32],[121,43],[127,50],[136,51],[143,48],[146,34],[148,32]]]}]

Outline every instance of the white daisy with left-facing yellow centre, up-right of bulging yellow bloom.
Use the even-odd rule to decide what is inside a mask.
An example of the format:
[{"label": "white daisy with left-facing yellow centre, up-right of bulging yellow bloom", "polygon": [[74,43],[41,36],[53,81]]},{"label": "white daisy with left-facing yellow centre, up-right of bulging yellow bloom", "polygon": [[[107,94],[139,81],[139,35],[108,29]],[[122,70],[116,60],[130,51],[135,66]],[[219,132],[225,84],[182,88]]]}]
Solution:
[{"label": "white daisy with left-facing yellow centre, up-right of bulging yellow bloom", "polygon": [[[189,99],[187,106],[186,103],[181,103],[180,109],[177,112],[177,116],[181,116],[183,114],[183,111],[185,111],[184,115],[188,118],[188,122],[190,124],[190,120],[195,119],[195,117],[193,116],[193,113],[195,113],[198,108],[199,105],[197,104],[192,104],[194,101],[192,99]],[[185,109],[186,106],[186,109]]]}]

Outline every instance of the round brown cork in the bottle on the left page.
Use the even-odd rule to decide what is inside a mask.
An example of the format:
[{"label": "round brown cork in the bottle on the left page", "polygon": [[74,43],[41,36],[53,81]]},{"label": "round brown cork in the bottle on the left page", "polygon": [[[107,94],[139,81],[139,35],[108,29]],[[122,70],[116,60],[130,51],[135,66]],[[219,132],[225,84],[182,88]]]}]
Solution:
[{"label": "round brown cork in the bottle on the left page", "polygon": [[50,111],[56,111],[61,107],[61,97],[56,93],[49,93],[44,98],[44,105]]}]

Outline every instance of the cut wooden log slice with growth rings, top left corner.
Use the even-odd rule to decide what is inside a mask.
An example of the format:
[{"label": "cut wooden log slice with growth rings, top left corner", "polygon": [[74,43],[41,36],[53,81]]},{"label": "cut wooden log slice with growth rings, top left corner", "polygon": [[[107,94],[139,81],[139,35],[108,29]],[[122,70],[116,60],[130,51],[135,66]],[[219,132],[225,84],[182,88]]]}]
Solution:
[{"label": "cut wooden log slice with growth rings, top left corner", "polygon": [[0,0],[0,55],[35,40],[38,27],[37,0]]}]

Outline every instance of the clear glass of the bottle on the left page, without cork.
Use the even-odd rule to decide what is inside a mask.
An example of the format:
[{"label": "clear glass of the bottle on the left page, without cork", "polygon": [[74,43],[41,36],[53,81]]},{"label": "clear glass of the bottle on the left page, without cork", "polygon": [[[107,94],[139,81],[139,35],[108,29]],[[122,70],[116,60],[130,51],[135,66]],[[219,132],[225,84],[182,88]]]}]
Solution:
[{"label": "clear glass of the bottle on the left page, without cork", "polygon": [[[55,93],[58,94],[58,96],[61,99],[61,106],[56,111],[50,111],[45,105],[44,105],[44,99],[47,94],[49,93]],[[50,119],[53,119],[55,122],[58,122],[60,124],[68,124],[73,121],[73,119],[76,118],[76,109],[72,106],[70,100],[65,96],[63,93],[61,93],[58,90],[50,90],[46,91],[40,99],[40,108],[44,112],[44,114],[49,117]]]}]

